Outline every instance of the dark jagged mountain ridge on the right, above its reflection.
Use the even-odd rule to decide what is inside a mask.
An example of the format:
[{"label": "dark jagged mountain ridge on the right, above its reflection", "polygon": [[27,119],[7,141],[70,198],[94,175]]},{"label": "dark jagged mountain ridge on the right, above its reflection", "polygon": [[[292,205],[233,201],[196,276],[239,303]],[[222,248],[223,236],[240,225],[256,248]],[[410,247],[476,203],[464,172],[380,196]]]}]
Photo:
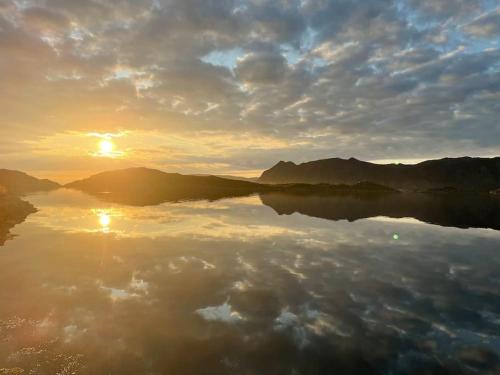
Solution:
[{"label": "dark jagged mountain ridge on the right, above its reflection", "polygon": [[302,164],[280,161],[259,178],[259,182],[267,184],[355,184],[360,181],[404,190],[456,188],[490,191],[500,187],[500,157],[445,158],[414,165],[374,164],[354,158]]}]

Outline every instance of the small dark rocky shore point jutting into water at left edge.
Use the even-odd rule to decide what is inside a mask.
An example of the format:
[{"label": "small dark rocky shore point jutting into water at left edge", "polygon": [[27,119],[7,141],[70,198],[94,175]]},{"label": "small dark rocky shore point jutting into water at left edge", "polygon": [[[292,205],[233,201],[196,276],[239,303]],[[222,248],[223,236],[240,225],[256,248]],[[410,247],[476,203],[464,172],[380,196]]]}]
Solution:
[{"label": "small dark rocky shore point jutting into water at left edge", "polygon": [[22,223],[36,209],[28,202],[0,192],[0,246],[10,239],[10,229]]}]

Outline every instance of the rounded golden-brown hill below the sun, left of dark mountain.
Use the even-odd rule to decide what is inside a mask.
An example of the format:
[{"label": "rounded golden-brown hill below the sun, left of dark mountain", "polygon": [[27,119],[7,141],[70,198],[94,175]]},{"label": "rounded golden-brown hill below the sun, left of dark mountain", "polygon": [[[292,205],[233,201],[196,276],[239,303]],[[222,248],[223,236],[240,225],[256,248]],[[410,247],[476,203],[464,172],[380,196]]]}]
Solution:
[{"label": "rounded golden-brown hill below the sun, left of dark mountain", "polygon": [[65,186],[97,195],[101,199],[130,205],[194,199],[216,200],[270,189],[269,186],[247,181],[166,173],[149,168],[102,172]]}]

